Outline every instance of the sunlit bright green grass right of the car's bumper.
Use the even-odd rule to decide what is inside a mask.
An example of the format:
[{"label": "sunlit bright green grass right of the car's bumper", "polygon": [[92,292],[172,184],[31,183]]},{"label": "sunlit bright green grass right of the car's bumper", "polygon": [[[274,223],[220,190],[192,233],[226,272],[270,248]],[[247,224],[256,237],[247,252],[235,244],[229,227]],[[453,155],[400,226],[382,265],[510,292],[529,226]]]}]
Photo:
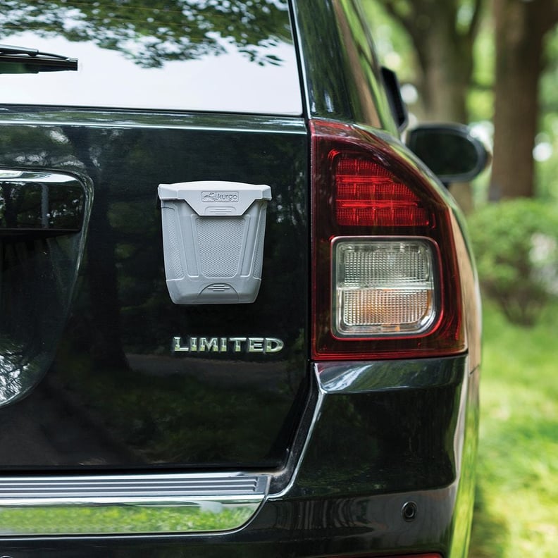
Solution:
[{"label": "sunlit bright green grass right of the car's bumper", "polygon": [[558,552],[558,306],[533,328],[485,302],[470,558]]}]

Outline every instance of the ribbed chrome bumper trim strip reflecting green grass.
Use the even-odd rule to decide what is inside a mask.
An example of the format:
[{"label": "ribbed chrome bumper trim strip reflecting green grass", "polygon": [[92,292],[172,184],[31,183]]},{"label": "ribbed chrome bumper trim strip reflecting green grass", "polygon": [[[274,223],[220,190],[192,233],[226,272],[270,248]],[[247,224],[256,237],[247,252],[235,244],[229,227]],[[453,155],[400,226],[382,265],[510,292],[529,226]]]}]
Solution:
[{"label": "ribbed chrome bumper trim strip reflecting green grass", "polygon": [[211,533],[247,523],[266,475],[151,474],[0,478],[0,535]]}]

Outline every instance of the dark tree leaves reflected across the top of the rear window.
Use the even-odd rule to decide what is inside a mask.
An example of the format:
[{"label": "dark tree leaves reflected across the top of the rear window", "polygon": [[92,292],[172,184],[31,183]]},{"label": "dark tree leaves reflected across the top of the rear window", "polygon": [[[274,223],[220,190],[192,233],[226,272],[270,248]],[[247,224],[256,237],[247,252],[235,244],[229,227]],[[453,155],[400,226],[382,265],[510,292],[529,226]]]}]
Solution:
[{"label": "dark tree leaves reflected across the top of the rear window", "polygon": [[290,42],[284,1],[0,0],[0,37],[22,30],[116,49],[145,68],[165,61],[222,54],[235,46],[260,64],[281,61],[259,46]]}]

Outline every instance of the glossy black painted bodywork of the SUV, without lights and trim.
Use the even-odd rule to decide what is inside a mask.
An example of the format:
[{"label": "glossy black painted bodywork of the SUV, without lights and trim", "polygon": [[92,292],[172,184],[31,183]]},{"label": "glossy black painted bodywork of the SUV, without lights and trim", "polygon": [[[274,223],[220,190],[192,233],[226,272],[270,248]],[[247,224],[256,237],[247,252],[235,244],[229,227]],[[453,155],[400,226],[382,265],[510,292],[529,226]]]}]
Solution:
[{"label": "glossy black painted bodywork of the SUV, without lights and trim", "polygon": [[[306,116],[395,133],[352,2],[293,1],[292,8]],[[366,56],[355,56],[362,52]],[[2,168],[54,168],[94,186],[87,247],[54,364],[31,395],[0,410],[3,476],[61,469],[229,470],[264,473],[270,486],[259,512],[235,531],[6,535],[0,538],[1,553],[13,558],[466,555],[480,328],[476,280],[459,221],[454,236],[466,304],[466,353],[312,363],[307,360],[309,137],[302,118],[3,109],[3,135],[18,149],[2,149]],[[56,141],[59,133],[68,141]],[[397,140],[390,142],[394,153],[404,151]],[[147,156],[154,146],[156,158]],[[185,318],[162,302],[167,295],[154,185],[184,180],[185,174],[203,180],[208,173],[263,183],[273,178],[264,280],[254,306],[193,308]],[[31,318],[18,319],[25,325]],[[215,358],[209,366],[205,355],[172,356],[175,335],[280,337],[288,350],[273,359]],[[168,376],[150,371],[168,369],[167,363]],[[130,395],[130,385],[140,386],[143,395]],[[212,397],[215,392],[223,397],[221,406],[204,409],[211,422],[172,416],[172,409],[188,409],[188,402],[206,402],[204,390],[210,389]],[[103,390],[116,392],[123,402],[132,397],[123,408],[133,409],[133,419],[108,416]],[[143,398],[163,394],[168,411],[158,415]],[[237,401],[234,407],[231,399]],[[197,426],[199,438],[185,435],[169,446],[166,433],[176,424],[182,431],[185,422]]]}]

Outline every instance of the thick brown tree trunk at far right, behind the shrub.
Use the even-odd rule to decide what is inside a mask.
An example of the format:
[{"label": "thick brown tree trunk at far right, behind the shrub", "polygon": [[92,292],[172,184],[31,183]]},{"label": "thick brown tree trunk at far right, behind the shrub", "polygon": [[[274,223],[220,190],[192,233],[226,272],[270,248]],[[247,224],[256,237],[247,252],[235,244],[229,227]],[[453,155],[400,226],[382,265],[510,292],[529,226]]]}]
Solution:
[{"label": "thick brown tree trunk at far right, behind the shrub", "polygon": [[533,147],[545,35],[558,23],[557,0],[494,0],[495,136],[490,199],[532,197]]}]

